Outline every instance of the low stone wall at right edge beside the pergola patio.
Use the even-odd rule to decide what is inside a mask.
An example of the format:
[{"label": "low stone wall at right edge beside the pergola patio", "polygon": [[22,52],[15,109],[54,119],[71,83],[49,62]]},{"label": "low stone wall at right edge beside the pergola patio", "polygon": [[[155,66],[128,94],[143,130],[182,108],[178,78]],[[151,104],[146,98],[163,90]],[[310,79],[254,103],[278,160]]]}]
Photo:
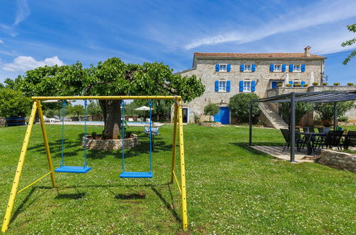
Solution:
[{"label": "low stone wall at right edge beside the pergola patio", "polygon": [[350,153],[321,150],[320,159],[317,162],[328,167],[356,172],[356,155]]}]

